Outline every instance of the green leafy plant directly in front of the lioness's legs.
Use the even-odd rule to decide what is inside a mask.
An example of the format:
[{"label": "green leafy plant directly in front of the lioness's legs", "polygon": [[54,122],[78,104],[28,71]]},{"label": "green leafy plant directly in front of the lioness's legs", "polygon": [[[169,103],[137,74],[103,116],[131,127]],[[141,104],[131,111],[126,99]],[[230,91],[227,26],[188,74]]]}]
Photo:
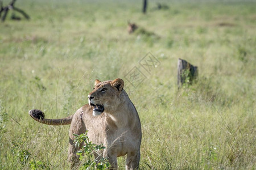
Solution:
[{"label": "green leafy plant directly in front of the lioness's legs", "polygon": [[108,169],[110,167],[108,159],[101,158],[96,162],[96,160],[93,158],[93,154],[105,148],[103,144],[96,145],[89,141],[87,131],[84,134],[73,135],[75,135],[76,147],[80,147],[82,144],[84,144],[84,146],[81,147],[81,150],[77,152],[77,155],[80,156],[80,160],[86,159],[85,163],[82,164],[80,169]]}]

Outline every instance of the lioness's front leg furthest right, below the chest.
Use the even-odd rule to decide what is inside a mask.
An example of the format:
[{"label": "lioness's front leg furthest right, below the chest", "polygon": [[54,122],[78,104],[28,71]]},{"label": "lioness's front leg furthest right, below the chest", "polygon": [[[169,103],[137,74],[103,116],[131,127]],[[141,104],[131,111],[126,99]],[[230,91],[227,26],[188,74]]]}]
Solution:
[{"label": "lioness's front leg furthest right, below the chest", "polygon": [[126,170],[139,169],[139,159],[141,158],[141,153],[138,152],[128,152],[126,158]]}]

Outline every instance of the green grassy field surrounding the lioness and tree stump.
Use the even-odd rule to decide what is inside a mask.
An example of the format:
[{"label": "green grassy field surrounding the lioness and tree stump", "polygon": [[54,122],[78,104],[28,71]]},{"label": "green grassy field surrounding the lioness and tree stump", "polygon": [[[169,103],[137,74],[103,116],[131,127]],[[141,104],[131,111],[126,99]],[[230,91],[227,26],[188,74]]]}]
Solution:
[{"label": "green grassy field surrounding the lioness and tree stump", "polygon": [[[141,169],[256,169],[256,2],[156,2],[146,15],[141,1],[16,2],[31,19],[0,23],[0,169],[68,169],[69,126],[28,111],[71,115],[96,78],[131,89]],[[129,35],[128,20],[144,31]],[[147,73],[149,52],[159,64]],[[199,67],[179,91],[178,58]],[[145,78],[136,88],[126,79],[134,67]]]}]

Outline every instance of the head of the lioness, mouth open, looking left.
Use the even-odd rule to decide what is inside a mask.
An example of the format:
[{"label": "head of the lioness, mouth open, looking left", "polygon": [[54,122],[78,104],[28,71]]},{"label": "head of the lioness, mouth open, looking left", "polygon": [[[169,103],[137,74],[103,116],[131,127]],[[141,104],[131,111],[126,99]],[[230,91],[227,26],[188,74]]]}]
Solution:
[{"label": "head of the lioness, mouth open, looking left", "polygon": [[93,107],[93,115],[105,112],[113,112],[121,103],[121,93],[124,82],[122,79],[101,82],[96,79],[93,91],[88,95],[88,102]]}]

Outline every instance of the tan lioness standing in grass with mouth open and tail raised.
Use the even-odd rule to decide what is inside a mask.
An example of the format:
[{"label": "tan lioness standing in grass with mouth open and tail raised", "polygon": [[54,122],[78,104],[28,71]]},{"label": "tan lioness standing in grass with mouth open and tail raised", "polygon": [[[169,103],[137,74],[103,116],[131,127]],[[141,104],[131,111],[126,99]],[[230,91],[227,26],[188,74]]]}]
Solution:
[{"label": "tan lioness standing in grass with mouth open and tail raised", "polygon": [[101,82],[96,79],[93,91],[88,95],[89,104],[84,105],[72,116],[61,119],[46,119],[39,110],[29,114],[34,120],[47,125],[69,125],[68,159],[73,168],[79,165],[79,150],[74,143],[73,134],[82,134],[88,130],[90,141],[106,147],[97,152],[97,160],[104,157],[109,160],[111,169],[117,169],[117,157],[125,156],[126,169],[138,169],[141,157],[141,121],[136,108],[129,99],[122,79]]}]

